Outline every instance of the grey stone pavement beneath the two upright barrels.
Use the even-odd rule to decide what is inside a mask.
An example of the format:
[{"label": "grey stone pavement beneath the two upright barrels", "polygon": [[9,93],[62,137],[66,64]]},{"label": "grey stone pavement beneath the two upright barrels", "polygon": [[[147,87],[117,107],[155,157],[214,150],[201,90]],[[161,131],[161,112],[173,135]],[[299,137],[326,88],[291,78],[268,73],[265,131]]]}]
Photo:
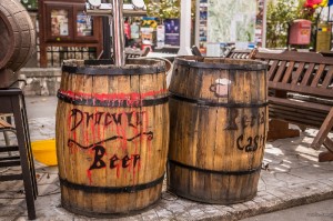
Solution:
[{"label": "grey stone pavement beneath the two upright barrels", "polygon": [[[29,101],[31,99],[27,99],[28,112],[32,111],[34,106]],[[52,102],[54,103],[53,100]],[[29,125],[32,140],[54,137],[53,114],[43,118],[30,114]],[[198,203],[167,192],[164,184],[162,198],[155,207],[141,214],[118,220],[240,220],[332,199],[333,162],[319,163],[317,154],[324,149],[314,151],[309,148],[315,132],[313,129],[307,129],[300,138],[266,143],[264,155],[266,169],[261,171],[258,195],[251,201],[232,205]],[[0,142],[3,142],[1,135]],[[38,220],[98,220],[75,215],[61,208],[57,167],[44,167],[36,162],[36,168],[40,193],[36,201]],[[0,173],[6,172],[8,172],[6,169],[0,171]],[[22,182],[1,182],[0,220],[27,219]]]}]

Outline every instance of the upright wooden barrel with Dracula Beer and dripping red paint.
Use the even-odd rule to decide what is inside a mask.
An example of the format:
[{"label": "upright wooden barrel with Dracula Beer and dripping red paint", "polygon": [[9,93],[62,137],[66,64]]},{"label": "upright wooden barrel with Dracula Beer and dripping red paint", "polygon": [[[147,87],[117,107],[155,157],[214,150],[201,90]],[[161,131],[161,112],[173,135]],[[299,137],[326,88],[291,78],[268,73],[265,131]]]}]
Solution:
[{"label": "upright wooden barrel with Dracula Beer and dripping red paint", "polygon": [[62,205],[74,213],[135,213],[161,195],[169,144],[162,61],[125,67],[65,61],[58,92]]}]

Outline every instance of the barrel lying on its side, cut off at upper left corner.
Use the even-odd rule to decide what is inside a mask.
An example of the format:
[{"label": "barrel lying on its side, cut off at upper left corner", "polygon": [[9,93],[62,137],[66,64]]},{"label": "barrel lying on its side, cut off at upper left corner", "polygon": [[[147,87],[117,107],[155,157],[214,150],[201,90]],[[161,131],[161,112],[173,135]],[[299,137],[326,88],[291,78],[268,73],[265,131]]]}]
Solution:
[{"label": "barrel lying on its side, cut off at upper left corner", "polygon": [[36,50],[31,18],[17,0],[0,1],[0,69],[18,71]]}]

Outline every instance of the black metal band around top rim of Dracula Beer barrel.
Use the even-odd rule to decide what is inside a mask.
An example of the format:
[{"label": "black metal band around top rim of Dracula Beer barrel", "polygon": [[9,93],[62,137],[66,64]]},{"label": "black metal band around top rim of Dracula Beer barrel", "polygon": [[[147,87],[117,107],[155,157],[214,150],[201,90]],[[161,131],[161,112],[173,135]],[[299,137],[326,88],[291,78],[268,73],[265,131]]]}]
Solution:
[{"label": "black metal band around top rim of Dracula Beer barrel", "polygon": [[62,72],[85,76],[142,76],[165,72],[165,66],[149,66],[135,68],[62,66]]}]

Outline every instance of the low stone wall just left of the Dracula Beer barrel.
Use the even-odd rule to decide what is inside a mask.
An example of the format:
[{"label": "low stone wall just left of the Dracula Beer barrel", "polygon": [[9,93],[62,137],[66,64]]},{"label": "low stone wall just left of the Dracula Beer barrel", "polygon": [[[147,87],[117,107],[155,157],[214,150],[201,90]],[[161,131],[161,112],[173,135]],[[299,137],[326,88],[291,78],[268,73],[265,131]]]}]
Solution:
[{"label": "low stone wall just left of the Dracula Beer barrel", "polygon": [[19,72],[27,80],[26,96],[56,96],[60,87],[60,68],[23,68]]}]

